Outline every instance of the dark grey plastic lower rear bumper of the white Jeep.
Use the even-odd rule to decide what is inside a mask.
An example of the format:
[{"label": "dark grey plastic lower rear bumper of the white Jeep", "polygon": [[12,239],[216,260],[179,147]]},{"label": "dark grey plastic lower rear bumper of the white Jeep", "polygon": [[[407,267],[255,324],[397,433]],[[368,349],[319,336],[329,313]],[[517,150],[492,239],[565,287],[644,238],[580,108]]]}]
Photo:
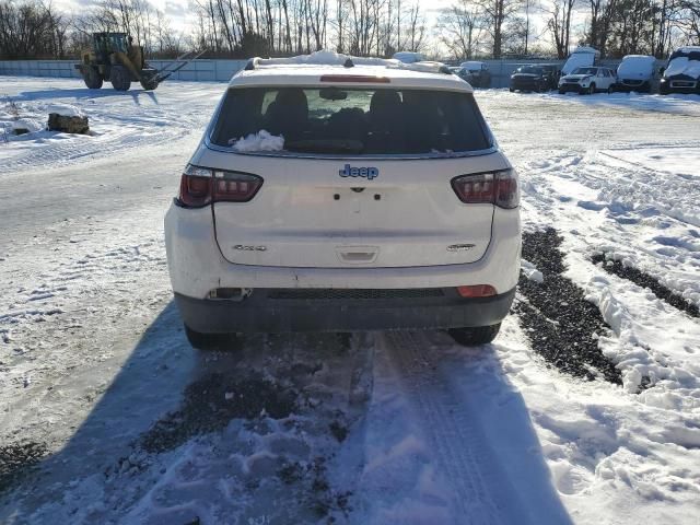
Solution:
[{"label": "dark grey plastic lower rear bumper of the white Jeep", "polygon": [[[185,324],[205,334],[351,331],[457,328],[500,323],[509,313],[515,289],[492,298],[463,299],[455,289],[432,289],[432,296],[378,299],[332,298],[311,291],[307,299],[289,290],[258,289],[243,301],[195,299],[175,294]],[[280,293],[281,292],[281,293]],[[313,293],[316,292],[316,293]],[[427,295],[431,295],[428,293]]]}]

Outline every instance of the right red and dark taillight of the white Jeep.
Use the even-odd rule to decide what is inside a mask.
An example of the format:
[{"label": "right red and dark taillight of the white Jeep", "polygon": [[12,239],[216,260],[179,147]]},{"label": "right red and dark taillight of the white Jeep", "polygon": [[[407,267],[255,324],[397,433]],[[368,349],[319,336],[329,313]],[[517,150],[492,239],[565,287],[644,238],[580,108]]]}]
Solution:
[{"label": "right red and dark taillight of the white Jeep", "polygon": [[517,175],[514,170],[462,175],[452,179],[459,200],[467,203],[489,203],[512,209],[520,205]]}]

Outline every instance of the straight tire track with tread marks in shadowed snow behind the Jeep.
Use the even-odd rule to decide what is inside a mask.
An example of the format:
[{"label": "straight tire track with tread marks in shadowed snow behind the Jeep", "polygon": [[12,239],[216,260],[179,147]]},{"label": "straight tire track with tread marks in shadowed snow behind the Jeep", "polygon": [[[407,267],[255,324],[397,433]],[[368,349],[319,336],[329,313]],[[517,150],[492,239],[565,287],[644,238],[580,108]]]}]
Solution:
[{"label": "straight tire track with tread marks in shadowed snow behind the Jeep", "polygon": [[[422,432],[438,459],[438,467],[455,491],[457,523],[508,524],[503,509],[516,498],[504,490],[509,481],[495,472],[497,460],[478,430],[478,419],[442,377],[436,363],[421,350],[420,335],[390,332],[385,346],[398,369]],[[466,522],[465,522],[466,520]]]}]

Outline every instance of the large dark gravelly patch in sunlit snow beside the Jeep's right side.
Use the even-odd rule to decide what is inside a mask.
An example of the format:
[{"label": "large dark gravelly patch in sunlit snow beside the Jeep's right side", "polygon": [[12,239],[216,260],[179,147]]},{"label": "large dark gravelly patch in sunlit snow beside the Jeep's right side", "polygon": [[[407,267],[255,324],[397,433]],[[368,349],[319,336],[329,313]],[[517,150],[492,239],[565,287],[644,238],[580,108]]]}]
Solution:
[{"label": "large dark gravelly patch in sunlit snow beside the Jeep's right side", "polygon": [[553,229],[523,234],[523,258],[545,279],[539,283],[521,275],[517,287],[525,301],[516,301],[513,310],[533,350],[549,364],[576,377],[621,385],[619,370],[598,348],[598,336],[608,335],[609,326],[583,290],[561,275],[567,269],[561,242]]}]

